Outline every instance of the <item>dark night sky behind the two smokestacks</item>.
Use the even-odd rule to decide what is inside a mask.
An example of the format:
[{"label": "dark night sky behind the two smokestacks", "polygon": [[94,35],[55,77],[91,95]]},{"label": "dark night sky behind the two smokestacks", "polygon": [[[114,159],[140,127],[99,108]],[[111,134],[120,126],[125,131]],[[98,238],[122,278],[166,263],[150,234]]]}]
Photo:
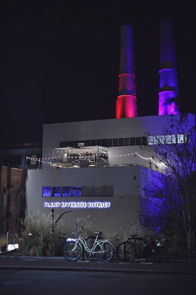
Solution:
[{"label": "dark night sky behind the two smokestacks", "polygon": [[115,118],[122,16],[134,21],[138,116],[157,115],[166,8],[175,23],[181,111],[196,112],[192,1],[5,2],[0,145],[42,141],[47,123]]}]

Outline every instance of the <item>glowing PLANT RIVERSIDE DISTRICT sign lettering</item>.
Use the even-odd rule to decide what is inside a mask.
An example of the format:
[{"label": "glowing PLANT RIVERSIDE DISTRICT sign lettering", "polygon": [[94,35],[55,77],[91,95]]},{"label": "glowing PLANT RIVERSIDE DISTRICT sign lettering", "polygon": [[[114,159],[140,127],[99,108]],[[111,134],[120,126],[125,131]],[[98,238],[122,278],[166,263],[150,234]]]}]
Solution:
[{"label": "glowing PLANT RIVERSIDE DISTRICT sign lettering", "polygon": [[110,208],[110,202],[44,202],[44,207]]}]

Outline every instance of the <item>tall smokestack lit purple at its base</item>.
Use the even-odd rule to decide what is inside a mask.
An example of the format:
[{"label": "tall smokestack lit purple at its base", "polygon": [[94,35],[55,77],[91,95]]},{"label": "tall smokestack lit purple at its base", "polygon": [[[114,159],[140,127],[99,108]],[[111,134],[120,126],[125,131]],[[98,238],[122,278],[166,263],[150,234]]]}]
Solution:
[{"label": "tall smokestack lit purple at its base", "polygon": [[177,73],[174,56],[172,21],[169,18],[160,22],[160,85],[159,115],[178,114],[175,102],[177,97]]}]

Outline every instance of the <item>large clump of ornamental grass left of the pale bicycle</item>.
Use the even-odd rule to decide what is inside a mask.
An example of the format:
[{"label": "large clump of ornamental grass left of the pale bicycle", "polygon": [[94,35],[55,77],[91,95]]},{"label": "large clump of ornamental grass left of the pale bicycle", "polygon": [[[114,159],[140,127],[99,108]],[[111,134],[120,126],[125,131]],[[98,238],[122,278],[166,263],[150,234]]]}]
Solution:
[{"label": "large clump of ornamental grass left of the pale bicycle", "polygon": [[38,211],[34,216],[26,217],[22,223],[20,251],[27,256],[51,257],[62,253],[59,226],[54,225],[52,213],[48,216],[38,217]]}]

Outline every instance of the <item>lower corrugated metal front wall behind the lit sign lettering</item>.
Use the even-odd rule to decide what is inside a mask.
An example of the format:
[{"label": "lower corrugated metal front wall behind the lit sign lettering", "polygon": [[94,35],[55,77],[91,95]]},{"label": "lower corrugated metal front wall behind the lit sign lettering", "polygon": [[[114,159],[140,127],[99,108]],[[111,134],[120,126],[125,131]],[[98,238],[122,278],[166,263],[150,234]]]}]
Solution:
[{"label": "lower corrugated metal front wall behind the lit sign lettering", "polygon": [[[65,168],[28,170],[26,181],[26,215],[40,210],[40,215],[49,214],[51,207],[44,207],[44,202],[110,202],[110,208],[53,208],[54,217],[64,214],[62,230],[70,235],[78,218],[90,219],[96,230],[109,233],[127,231],[130,224],[139,218],[139,167],[107,168]],[[113,185],[113,197],[42,197],[42,186],[87,186]]]}]

